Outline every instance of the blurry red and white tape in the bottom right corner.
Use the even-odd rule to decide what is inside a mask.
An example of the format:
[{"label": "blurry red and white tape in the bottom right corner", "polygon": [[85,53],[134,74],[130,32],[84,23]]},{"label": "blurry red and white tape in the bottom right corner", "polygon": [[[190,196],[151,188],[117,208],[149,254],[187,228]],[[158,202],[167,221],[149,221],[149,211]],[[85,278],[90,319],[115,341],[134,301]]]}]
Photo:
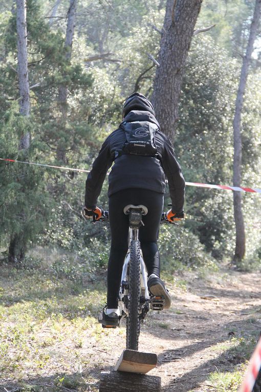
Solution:
[{"label": "blurry red and white tape in the bottom right corner", "polygon": [[252,354],[252,357],[250,359],[247,368],[247,373],[238,392],[252,392],[260,367],[261,367],[261,339],[258,340],[254,353]]}]

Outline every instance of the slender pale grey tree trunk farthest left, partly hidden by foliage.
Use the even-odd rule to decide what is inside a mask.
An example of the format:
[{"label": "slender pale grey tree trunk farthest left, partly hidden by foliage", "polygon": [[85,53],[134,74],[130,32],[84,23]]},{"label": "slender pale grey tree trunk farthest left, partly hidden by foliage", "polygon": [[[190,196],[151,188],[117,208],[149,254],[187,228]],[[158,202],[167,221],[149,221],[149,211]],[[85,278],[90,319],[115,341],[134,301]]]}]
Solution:
[{"label": "slender pale grey tree trunk farthest left, partly hidden by foliage", "polygon": [[[19,88],[19,112],[22,116],[30,114],[30,95],[27,57],[27,23],[26,0],[16,0],[16,31],[17,31],[17,75]],[[28,151],[30,147],[30,132],[24,131],[19,141],[19,150]],[[21,178],[23,182],[23,178]],[[19,211],[23,217],[23,211]],[[25,240],[23,233],[13,233],[8,248],[9,261],[23,261],[25,257]]]}]

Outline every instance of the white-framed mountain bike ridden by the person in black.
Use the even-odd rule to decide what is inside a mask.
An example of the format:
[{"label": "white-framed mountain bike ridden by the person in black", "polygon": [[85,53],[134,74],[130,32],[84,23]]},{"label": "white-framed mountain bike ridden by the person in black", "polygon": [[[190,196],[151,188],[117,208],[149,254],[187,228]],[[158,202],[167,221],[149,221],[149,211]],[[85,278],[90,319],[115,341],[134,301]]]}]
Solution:
[{"label": "white-framed mountain bike ridden by the person in black", "polygon": [[[140,324],[149,310],[162,311],[163,297],[151,295],[147,287],[147,270],[142,258],[139,241],[139,228],[143,225],[142,216],[148,212],[145,205],[128,204],[123,209],[129,217],[128,252],[122,268],[119,289],[120,320],[126,320],[126,348],[138,350]],[[104,211],[104,219],[109,220],[108,212]],[[166,213],[162,213],[162,223],[177,223],[166,220]]]}]

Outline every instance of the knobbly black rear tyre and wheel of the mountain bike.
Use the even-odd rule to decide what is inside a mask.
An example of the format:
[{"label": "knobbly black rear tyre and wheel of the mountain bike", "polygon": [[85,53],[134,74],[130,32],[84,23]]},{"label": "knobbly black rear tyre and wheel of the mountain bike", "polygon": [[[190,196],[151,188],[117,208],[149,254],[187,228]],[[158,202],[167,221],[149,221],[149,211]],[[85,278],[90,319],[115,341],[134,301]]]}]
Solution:
[{"label": "knobbly black rear tyre and wheel of the mountain bike", "polygon": [[128,317],[126,318],[126,348],[138,350],[140,335],[140,243],[130,243],[128,279]]}]

